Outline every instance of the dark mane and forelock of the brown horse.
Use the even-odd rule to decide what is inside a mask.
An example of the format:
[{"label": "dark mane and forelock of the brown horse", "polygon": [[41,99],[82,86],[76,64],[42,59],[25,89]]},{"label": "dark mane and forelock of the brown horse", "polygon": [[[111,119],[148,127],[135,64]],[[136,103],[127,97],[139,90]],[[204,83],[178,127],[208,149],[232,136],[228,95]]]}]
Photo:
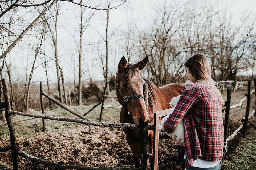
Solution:
[{"label": "dark mane and forelock of the brown horse", "polygon": [[[136,68],[134,67],[134,65],[132,65],[131,63],[128,63],[127,67],[125,68],[126,80],[129,81],[134,76],[135,72],[136,72]],[[145,83],[148,84],[148,105],[153,111],[154,110],[153,101],[156,102],[156,95],[153,88],[157,88],[157,87],[150,80],[146,78],[143,78],[143,80],[145,81]]]}]

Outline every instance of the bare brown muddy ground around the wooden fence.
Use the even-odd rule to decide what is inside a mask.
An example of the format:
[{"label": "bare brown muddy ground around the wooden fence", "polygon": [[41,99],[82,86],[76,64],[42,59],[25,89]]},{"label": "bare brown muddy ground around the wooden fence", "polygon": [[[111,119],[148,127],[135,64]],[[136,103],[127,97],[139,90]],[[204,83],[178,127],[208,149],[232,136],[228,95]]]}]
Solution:
[{"label": "bare brown muddy ground around the wooden fence", "polygon": [[[238,91],[232,94],[232,103],[238,103],[244,97],[246,91]],[[226,100],[226,93],[223,100]],[[241,118],[245,115],[247,100],[241,108],[231,111],[229,122],[229,134],[241,124]],[[255,94],[252,96],[251,106],[255,105]],[[255,106],[250,110],[255,109]],[[250,111],[250,112],[251,112]],[[223,120],[225,119],[223,113]],[[107,119],[105,119],[106,121]],[[255,116],[250,121],[255,125]],[[109,119],[108,121],[109,122]],[[113,122],[118,122],[115,120]],[[120,128],[105,128],[87,125],[77,125],[73,129],[48,131],[30,136],[17,137],[20,149],[36,157],[57,162],[59,164],[94,166],[94,167],[134,167],[132,153],[125,140],[125,134]],[[241,130],[240,130],[241,133]],[[232,159],[232,151],[236,149],[241,139],[241,134],[228,143],[226,159]],[[247,136],[255,136],[255,129],[248,124]],[[2,138],[0,147],[9,145],[9,138]],[[11,152],[0,152],[0,162],[4,162],[10,168]],[[177,146],[172,141],[164,139],[159,141],[159,167],[161,170],[180,169],[177,161]],[[225,162],[224,162],[225,164]],[[19,157],[20,169],[54,169],[49,166],[37,165],[22,157]],[[225,165],[222,166],[225,169]]]}]

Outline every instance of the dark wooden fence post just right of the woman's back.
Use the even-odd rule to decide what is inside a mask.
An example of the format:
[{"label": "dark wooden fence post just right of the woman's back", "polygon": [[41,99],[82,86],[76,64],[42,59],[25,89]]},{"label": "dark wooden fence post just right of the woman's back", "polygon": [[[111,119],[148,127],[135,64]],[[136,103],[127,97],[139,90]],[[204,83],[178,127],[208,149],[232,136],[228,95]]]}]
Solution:
[{"label": "dark wooden fence post just right of the woman's back", "polygon": [[[227,89],[227,101],[225,103],[226,105],[226,114],[225,114],[225,122],[224,122],[224,146],[227,144],[227,137],[228,137],[228,120],[229,120],[229,113],[230,113],[230,104],[231,104],[231,86]],[[223,157],[222,160],[224,160],[226,149],[223,148]]]}]

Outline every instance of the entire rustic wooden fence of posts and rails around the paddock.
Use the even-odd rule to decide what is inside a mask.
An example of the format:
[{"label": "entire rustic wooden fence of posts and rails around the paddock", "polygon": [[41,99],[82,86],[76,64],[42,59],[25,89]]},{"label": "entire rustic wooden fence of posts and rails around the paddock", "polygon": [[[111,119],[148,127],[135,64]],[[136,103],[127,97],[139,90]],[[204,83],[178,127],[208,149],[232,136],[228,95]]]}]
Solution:
[{"label": "entire rustic wooden fence of posts and rails around the paddock", "polygon": [[[109,122],[95,122],[95,121],[90,121],[87,118],[84,118],[82,115],[77,114],[76,112],[68,109],[67,107],[65,107],[63,104],[61,104],[59,101],[53,99],[52,97],[50,97],[49,95],[45,94],[42,91],[42,83],[40,84],[40,100],[41,100],[41,109],[42,109],[42,115],[34,115],[34,114],[29,114],[29,113],[22,113],[22,112],[16,112],[16,111],[11,111],[11,105],[10,105],[10,97],[9,97],[9,91],[8,91],[8,86],[7,83],[5,81],[5,79],[1,79],[2,84],[3,84],[3,88],[4,88],[4,98],[5,98],[5,102],[6,102],[6,108],[5,109],[0,109],[5,111],[5,118],[6,118],[6,124],[8,125],[9,131],[10,131],[10,142],[11,142],[11,146],[7,146],[4,148],[0,148],[0,151],[12,151],[12,165],[13,165],[13,169],[18,169],[18,155],[29,159],[33,162],[36,162],[38,164],[44,164],[47,166],[52,166],[52,167],[56,167],[59,169],[86,169],[86,170],[124,170],[124,169],[142,169],[142,170],[148,170],[148,169],[157,169],[157,162],[158,162],[158,133],[159,131],[156,129],[156,125],[159,123],[159,117],[167,115],[169,113],[169,110],[163,110],[163,111],[159,111],[155,113],[155,122],[154,125],[149,125],[147,128],[137,128],[135,126],[135,124],[130,124],[130,123],[109,123]],[[245,80],[243,80],[245,81]],[[250,112],[250,102],[251,102],[251,95],[253,93],[255,93],[255,89],[256,89],[256,79],[254,78],[254,89],[251,91],[251,80],[247,80],[248,81],[248,90],[247,90],[247,94],[246,96],[239,101],[239,103],[230,106],[231,103],[231,88],[228,89],[227,91],[227,101],[225,102],[225,106],[226,108],[222,109],[222,112],[226,112],[225,114],[225,123],[224,123],[224,155],[223,155],[223,159],[225,156],[225,152],[227,151],[227,144],[228,141],[230,141],[236,134],[237,132],[242,129],[242,127],[244,127],[243,129],[243,137],[246,136],[246,127],[248,122],[250,124],[252,124],[250,121],[248,121],[248,119],[252,116],[255,115],[255,110],[253,110],[251,113]],[[143,88],[143,93],[144,93],[144,100],[147,106],[147,92],[148,88],[147,88],[147,84],[144,85]],[[105,90],[104,90],[105,91]],[[58,104],[60,107],[68,110],[70,113],[78,116],[81,119],[75,119],[75,118],[66,118],[66,117],[54,117],[54,116],[47,116],[44,115],[44,105],[42,102],[42,96],[45,96],[46,98],[52,100],[54,103]],[[103,104],[104,104],[104,99],[108,98],[108,96],[103,95],[104,98],[103,100],[100,102],[102,103],[101,109],[103,109]],[[256,96],[256,93],[255,93]],[[110,96],[112,97],[112,96]],[[236,129],[229,137],[227,137],[228,134],[228,121],[229,121],[229,116],[230,116],[230,110],[236,107],[240,107],[242,106],[244,100],[247,98],[247,107],[246,107],[246,113],[245,113],[245,117],[241,120],[242,124],[241,126],[239,126],[238,129]],[[100,104],[99,103],[99,104]],[[255,106],[256,106],[256,102],[255,102]],[[147,107],[146,107],[147,108]],[[15,129],[13,126],[13,122],[12,122],[12,114],[16,114],[16,115],[24,115],[24,116],[29,116],[32,118],[29,119],[34,119],[34,118],[41,118],[43,120],[43,130],[45,130],[45,124],[44,124],[44,119],[49,119],[49,120],[56,120],[56,121],[66,121],[66,122],[76,122],[76,123],[80,123],[80,124],[85,124],[85,125],[93,125],[93,126],[102,126],[102,127],[112,127],[112,128],[127,128],[127,129],[138,129],[139,131],[139,143],[140,143],[140,153],[141,153],[141,167],[140,168],[128,168],[128,167],[103,167],[103,168],[98,168],[98,167],[87,167],[87,166],[75,166],[75,165],[60,165],[57,164],[55,162],[52,161],[47,161],[44,159],[40,159],[37,158],[35,156],[29,155],[28,153],[22,151],[21,149],[19,149],[17,147],[16,144],[16,138],[15,138]],[[86,114],[85,114],[86,115]],[[102,115],[102,111],[100,113],[100,115]],[[101,117],[101,116],[100,116]],[[25,119],[25,120],[29,120],[29,119]],[[24,120],[21,120],[24,121]],[[17,121],[18,122],[18,121]],[[252,126],[254,127],[254,125],[252,124]],[[254,127],[255,128],[255,127]],[[255,128],[256,129],[256,128]],[[148,130],[154,130],[154,147],[153,147],[153,153],[149,153],[148,152]],[[153,157],[153,161],[152,163],[150,163],[150,157]]]}]

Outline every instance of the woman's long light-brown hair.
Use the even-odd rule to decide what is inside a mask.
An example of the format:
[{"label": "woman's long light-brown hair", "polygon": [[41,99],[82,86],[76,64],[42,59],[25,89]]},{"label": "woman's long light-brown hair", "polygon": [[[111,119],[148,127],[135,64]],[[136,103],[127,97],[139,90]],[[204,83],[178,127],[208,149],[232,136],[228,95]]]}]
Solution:
[{"label": "woman's long light-brown hair", "polygon": [[212,67],[203,54],[197,53],[188,58],[184,66],[188,67],[188,70],[195,81],[202,81],[206,84],[211,83],[213,89],[220,95],[221,100],[223,101],[220,91],[215,86],[217,83],[212,79]]}]

